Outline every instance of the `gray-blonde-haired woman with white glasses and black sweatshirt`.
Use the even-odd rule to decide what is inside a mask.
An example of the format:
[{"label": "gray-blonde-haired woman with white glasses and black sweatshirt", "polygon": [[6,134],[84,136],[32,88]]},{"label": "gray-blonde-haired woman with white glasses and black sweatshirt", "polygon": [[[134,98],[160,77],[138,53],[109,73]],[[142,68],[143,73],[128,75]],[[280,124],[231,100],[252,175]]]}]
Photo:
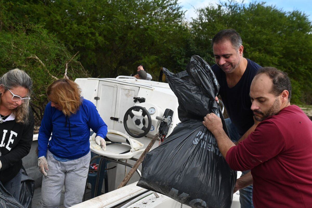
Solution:
[{"label": "gray-blonde-haired woman with white glasses and black sweatshirt", "polygon": [[32,80],[14,69],[0,77],[0,181],[19,201],[22,158],[31,148],[34,118],[29,108]]}]

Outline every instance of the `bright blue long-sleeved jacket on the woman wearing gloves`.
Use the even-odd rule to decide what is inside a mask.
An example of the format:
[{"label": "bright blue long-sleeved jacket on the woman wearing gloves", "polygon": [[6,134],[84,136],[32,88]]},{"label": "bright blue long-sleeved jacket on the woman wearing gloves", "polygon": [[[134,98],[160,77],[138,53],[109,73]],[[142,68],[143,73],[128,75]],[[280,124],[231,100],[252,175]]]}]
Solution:
[{"label": "bright blue long-sleeved jacket on the woman wearing gloves", "polygon": [[97,136],[106,137],[107,125],[95,105],[83,97],[81,99],[78,111],[69,117],[51,107],[51,102],[46,105],[38,135],[38,157],[46,156],[47,148],[61,158],[85,156],[90,151],[90,128]]}]

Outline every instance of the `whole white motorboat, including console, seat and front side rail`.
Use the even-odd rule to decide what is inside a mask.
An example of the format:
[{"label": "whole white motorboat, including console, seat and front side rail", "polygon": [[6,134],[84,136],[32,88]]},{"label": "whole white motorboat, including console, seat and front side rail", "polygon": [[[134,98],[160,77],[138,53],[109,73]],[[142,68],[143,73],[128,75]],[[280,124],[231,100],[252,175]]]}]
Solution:
[{"label": "whole white motorboat, including console, seat and front side rail", "polygon": [[[144,148],[150,143],[151,139],[161,133],[165,136],[170,135],[173,128],[180,122],[178,119],[178,99],[170,89],[167,83],[137,80],[134,77],[119,76],[117,78],[85,78],[76,79],[75,82],[82,89],[82,96],[93,102],[105,123],[108,125],[108,138],[114,140],[114,144],[108,142],[105,152],[96,148],[95,142],[90,138],[90,148],[92,152],[110,158],[112,161],[119,163],[127,162],[130,165],[144,151]],[[144,102],[143,102],[144,101]],[[134,107],[136,106],[136,107]],[[132,116],[126,116],[126,128],[132,134],[144,134],[140,138],[134,138],[131,133],[125,130],[125,114],[130,108],[134,108]],[[142,116],[142,109],[148,110],[150,115],[149,121]],[[173,111],[173,114],[170,110]],[[129,113],[129,111],[128,111]],[[144,115],[144,114],[143,114]],[[144,123],[144,121],[145,123]],[[163,120],[163,121],[161,121]],[[168,129],[166,130],[166,127]],[[144,130],[141,130],[143,128]],[[146,131],[148,129],[148,131]],[[128,131],[128,132],[129,132]],[[37,136],[34,135],[34,142],[30,154],[23,159],[24,167],[28,175],[32,176],[36,184],[40,186],[42,175],[37,169],[37,157],[34,160],[37,145]],[[110,145],[109,145],[110,144]],[[153,147],[159,145],[157,141]],[[31,155],[32,154],[32,155]],[[84,201],[75,208],[186,208],[189,206],[182,205],[167,196],[153,191],[146,190],[136,186],[139,180],[139,174],[134,174],[129,181],[129,185],[117,189],[125,176],[125,166],[115,162],[110,162],[107,168],[116,168],[108,170],[108,193],[97,196],[93,199]],[[126,169],[128,172],[130,168]],[[139,166],[138,170],[141,170]],[[138,173],[140,173],[138,171]],[[240,175],[240,174],[238,174]],[[104,189],[103,191],[104,192]],[[240,207],[239,195],[233,195],[232,208]]]}]

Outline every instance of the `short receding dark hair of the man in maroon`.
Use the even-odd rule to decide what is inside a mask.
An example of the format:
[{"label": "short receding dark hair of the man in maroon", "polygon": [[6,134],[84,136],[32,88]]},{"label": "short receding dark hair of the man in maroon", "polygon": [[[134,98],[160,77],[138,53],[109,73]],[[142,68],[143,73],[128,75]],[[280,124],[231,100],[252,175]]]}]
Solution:
[{"label": "short receding dark hair of the man in maroon", "polygon": [[285,89],[289,92],[288,101],[291,99],[291,84],[286,72],[277,70],[274,67],[262,67],[258,70],[255,77],[259,74],[268,75],[273,81],[272,93],[280,95]]}]

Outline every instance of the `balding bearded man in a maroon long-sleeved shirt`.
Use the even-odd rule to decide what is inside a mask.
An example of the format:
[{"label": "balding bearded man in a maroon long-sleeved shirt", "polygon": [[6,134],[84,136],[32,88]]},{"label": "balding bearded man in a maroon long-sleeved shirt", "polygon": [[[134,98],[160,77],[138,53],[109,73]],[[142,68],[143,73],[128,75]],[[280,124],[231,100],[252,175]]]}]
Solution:
[{"label": "balding bearded man in a maroon long-sleeved shirt", "polygon": [[251,83],[251,110],[260,123],[235,145],[215,114],[203,124],[213,133],[227,163],[251,172],[237,179],[234,191],[253,183],[255,207],[312,206],[312,121],[290,105],[291,85],[285,72],[260,69]]}]

